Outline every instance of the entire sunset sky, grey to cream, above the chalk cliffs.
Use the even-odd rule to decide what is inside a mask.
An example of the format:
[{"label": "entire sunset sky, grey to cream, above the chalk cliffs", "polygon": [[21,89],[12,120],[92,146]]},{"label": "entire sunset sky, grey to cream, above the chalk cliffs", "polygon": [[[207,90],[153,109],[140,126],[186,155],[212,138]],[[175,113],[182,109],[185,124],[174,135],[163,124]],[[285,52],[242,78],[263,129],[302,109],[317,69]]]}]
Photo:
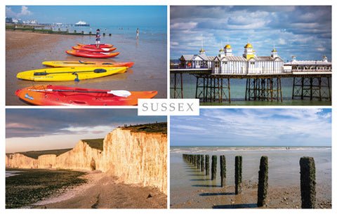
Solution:
[{"label": "entire sunset sky, grey to cream, above the chalk cliffs", "polygon": [[156,121],[166,116],[137,116],[137,109],[6,109],[6,153],[72,148],[124,124]]}]

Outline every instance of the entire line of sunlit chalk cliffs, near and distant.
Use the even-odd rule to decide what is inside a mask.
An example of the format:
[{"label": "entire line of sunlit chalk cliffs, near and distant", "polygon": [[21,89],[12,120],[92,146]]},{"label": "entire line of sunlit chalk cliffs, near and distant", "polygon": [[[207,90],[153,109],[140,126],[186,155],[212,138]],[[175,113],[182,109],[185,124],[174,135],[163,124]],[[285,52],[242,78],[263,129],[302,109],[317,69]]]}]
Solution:
[{"label": "entire line of sunlit chalk cliffs, near and distant", "polygon": [[167,194],[167,136],[117,128],[105,136],[103,150],[79,140],[76,147],[58,156],[43,154],[34,159],[7,154],[6,167],[101,170],[122,182],[157,187]]}]

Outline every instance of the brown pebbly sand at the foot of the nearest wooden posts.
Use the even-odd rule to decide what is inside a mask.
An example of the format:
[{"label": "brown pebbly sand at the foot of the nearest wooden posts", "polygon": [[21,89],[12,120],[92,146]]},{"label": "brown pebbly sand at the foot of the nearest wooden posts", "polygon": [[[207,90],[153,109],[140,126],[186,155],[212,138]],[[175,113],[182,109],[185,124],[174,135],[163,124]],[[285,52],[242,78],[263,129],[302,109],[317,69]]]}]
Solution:
[{"label": "brown pebbly sand at the foot of the nearest wooden posts", "polygon": [[[200,187],[193,192],[180,192],[171,196],[170,208],[258,208],[258,185],[246,182],[242,194],[235,195],[234,186]],[[317,185],[316,208],[331,208],[326,188]],[[300,187],[269,187],[266,208],[300,208]]]}]

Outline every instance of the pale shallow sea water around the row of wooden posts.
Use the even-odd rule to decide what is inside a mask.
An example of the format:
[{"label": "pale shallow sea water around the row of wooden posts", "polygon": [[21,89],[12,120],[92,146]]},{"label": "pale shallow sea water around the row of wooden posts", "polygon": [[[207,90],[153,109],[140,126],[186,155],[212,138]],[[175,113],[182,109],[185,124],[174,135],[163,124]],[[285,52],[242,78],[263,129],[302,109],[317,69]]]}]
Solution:
[{"label": "pale shallow sea water around the row of wooden posts", "polygon": [[[186,163],[183,154],[209,154],[218,156],[216,181]],[[331,192],[331,147],[171,147],[170,191],[171,196],[196,191],[200,187],[220,187],[220,155],[226,159],[226,185],[234,186],[235,156],[242,156],[242,181],[257,183],[260,157],[268,157],[268,184],[270,187],[300,185],[300,158],[315,159],[316,182]],[[211,172],[211,169],[210,169]],[[329,193],[327,193],[329,194]]]}]

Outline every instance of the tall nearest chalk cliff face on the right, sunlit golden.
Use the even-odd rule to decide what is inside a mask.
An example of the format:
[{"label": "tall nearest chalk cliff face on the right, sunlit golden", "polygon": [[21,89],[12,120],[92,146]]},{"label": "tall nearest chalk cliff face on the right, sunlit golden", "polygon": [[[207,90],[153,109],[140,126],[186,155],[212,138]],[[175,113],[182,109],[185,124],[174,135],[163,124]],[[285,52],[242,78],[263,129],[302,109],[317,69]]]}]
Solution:
[{"label": "tall nearest chalk cliff face on the right, sunlit golden", "polygon": [[103,171],[167,192],[167,137],[117,128],[104,139]]}]

